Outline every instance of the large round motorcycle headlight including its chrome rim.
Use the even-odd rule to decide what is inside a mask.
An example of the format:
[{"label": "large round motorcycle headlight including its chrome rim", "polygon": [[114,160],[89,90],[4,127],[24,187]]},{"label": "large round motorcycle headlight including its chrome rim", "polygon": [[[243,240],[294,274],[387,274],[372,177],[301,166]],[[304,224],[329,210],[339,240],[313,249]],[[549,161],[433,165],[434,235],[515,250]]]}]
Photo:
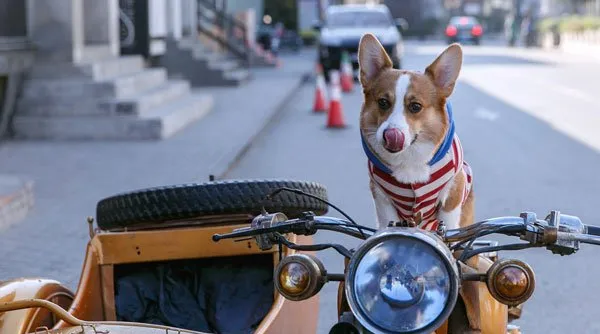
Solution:
[{"label": "large round motorcycle headlight including its chrome rim", "polygon": [[459,290],[458,268],[435,235],[388,228],[369,238],[348,264],[352,313],[375,333],[430,333],[448,318]]}]

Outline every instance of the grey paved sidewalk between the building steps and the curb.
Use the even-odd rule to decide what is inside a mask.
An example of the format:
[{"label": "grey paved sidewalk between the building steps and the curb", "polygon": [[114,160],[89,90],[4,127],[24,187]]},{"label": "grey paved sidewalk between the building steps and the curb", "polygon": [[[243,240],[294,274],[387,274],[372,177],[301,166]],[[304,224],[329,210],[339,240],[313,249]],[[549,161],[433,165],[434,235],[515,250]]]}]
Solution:
[{"label": "grey paved sidewalk between the building steps and the curb", "polygon": [[75,288],[89,239],[86,217],[95,215],[98,200],[223,175],[298,91],[314,57],[314,50],[286,55],[281,68],[253,70],[244,86],[201,90],[213,94],[214,110],[167,140],[1,145],[0,174],[31,177],[36,205],[22,223],[0,233],[0,280],[43,276]]}]

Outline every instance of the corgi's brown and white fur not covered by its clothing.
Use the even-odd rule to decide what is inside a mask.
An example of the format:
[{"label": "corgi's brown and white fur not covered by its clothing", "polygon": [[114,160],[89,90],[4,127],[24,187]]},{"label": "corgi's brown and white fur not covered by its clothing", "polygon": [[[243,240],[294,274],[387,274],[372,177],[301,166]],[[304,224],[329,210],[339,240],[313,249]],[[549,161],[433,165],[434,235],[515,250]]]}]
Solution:
[{"label": "corgi's brown and white fur not covered by its clothing", "polygon": [[[419,183],[427,181],[429,175],[415,175],[405,173],[408,170],[407,166],[415,169],[420,168],[418,165],[419,159],[422,164],[424,174],[428,171],[426,161],[431,157],[433,152],[442,144],[445,134],[448,131],[449,120],[445,110],[446,99],[452,94],[460,67],[462,66],[462,49],[458,44],[450,45],[435,61],[429,65],[424,73],[417,71],[396,70],[392,68],[392,61],[379,43],[379,41],[371,34],[363,36],[359,47],[359,63],[360,63],[360,81],[363,87],[364,101],[360,115],[360,127],[363,135],[367,139],[367,143],[373,151],[392,166],[394,176],[403,183]],[[397,84],[399,80],[404,80],[407,83],[404,96],[397,95]],[[386,99],[391,104],[388,110],[382,110],[378,105],[380,99]],[[402,100],[400,100],[402,99]],[[409,104],[418,103],[422,109],[418,113],[407,112]],[[418,151],[417,146],[414,146],[412,152],[390,153],[382,149],[382,145],[377,143],[374,133],[388,121],[396,110],[402,110],[403,121],[411,133],[415,133],[414,140],[411,142],[405,151],[412,149],[412,144],[429,145],[430,152]],[[412,138],[408,138],[412,140]],[[429,147],[428,146],[428,147]],[[404,154],[404,156],[402,156]],[[419,174],[418,172],[416,174]],[[448,185],[447,195],[443,203],[441,203],[439,211],[453,212],[460,210],[459,221],[454,222],[454,226],[450,228],[464,227],[473,223],[473,204],[474,195],[473,189],[466,200],[463,199],[463,189],[465,186],[465,175],[462,173],[456,174],[456,177]],[[380,227],[390,220],[391,214],[381,213],[381,211],[391,211],[382,209],[381,196],[377,195],[377,184],[371,182],[371,191],[376,201],[378,209],[378,220]],[[464,204],[463,204],[464,203]],[[385,205],[383,205],[385,206]],[[462,206],[462,207],[461,207]],[[385,219],[385,222],[381,220]]]}]

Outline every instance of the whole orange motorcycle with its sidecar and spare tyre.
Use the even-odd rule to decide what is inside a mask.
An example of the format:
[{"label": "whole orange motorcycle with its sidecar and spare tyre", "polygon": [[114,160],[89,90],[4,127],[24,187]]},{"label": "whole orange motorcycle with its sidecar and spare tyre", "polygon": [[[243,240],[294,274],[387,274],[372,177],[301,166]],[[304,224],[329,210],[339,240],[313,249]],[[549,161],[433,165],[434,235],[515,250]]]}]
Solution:
[{"label": "whole orange motorcycle with its sidecar and spare tyre", "polygon": [[[319,292],[338,284],[336,333],[519,333],[535,275],[497,252],[575,253],[600,228],[552,211],[428,232],[325,216],[322,185],[226,180],[143,189],[98,203],[76,293],[55,280],[0,282],[0,333],[315,333]],[[271,212],[271,213],[270,213]],[[94,224],[97,225],[94,228]],[[314,244],[319,231],[363,240]],[[503,234],[522,242],[481,238]],[[234,239],[235,242],[226,239]],[[343,273],[314,252],[334,249]],[[298,316],[302,314],[302,316]],[[485,320],[485,321],[483,321]]]}]

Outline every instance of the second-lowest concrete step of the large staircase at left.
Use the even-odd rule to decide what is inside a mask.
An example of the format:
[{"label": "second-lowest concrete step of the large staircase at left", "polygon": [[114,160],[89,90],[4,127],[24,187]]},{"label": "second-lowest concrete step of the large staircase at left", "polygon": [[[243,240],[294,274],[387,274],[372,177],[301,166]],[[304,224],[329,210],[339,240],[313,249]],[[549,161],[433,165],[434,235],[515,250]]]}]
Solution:
[{"label": "second-lowest concrete step of the large staircase at left", "polygon": [[190,91],[186,81],[169,80],[139,94],[121,99],[47,99],[23,98],[18,102],[20,116],[100,116],[142,114]]}]

